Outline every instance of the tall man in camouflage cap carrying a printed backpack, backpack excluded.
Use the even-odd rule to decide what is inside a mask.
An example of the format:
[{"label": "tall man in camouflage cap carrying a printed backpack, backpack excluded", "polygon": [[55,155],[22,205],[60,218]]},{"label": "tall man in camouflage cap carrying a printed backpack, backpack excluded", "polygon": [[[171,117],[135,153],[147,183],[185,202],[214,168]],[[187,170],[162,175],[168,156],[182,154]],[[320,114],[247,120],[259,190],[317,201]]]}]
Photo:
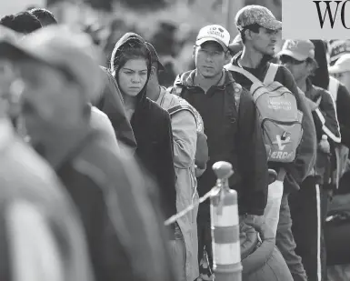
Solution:
[{"label": "tall man in camouflage cap carrying a printed backpack, backpack excluded", "polygon": [[[225,67],[228,70],[230,70],[230,65],[242,67],[245,71],[255,75],[258,80],[264,81],[265,74],[270,67],[270,60],[275,55],[278,33],[281,30],[282,23],[264,6],[246,5],[235,15],[235,25],[242,38],[243,50],[235,55],[231,63]],[[237,83],[250,89],[252,85],[250,79],[235,71],[230,71],[230,73]],[[303,113],[302,126],[304,129],[303,140],[297,148],[302,153],[296,154],[293,163],[287,165],[275,162],[268,163],[269,168],[275,169],[281,175],[270,186],[271,194],[278,190],[278,196],[281,196],[282,191],[284,191],[281,197],[280,212],[279,214],[274,214],[274,219],[275,216],[279,216],[276,245],[285,257],[295,280],[306,280],[305,270],[301,264],[300,257],[295,255],[295,241],[286,237],[288,234],[291,235],[292,225],[288,207],[288,194],[292,190],[299,189],[299,185],[301,185],[309,172],[310,166],[315,161],[315,135],[313,135],[315,133],[315,125],[311,111],[305,104],[304,98],[301,97],[293,75],[285,66],[277,65],[274,81],[284,85],[295,95],[298,110]],[[284,170],[286,172],[285,176],[282,173]],[[273,201],[274,199],[271,200],[271,202]],[[270,207],[266,209],[266,214],[272,214],[269,210]],[[281,234],[281,229],[284,229],[284,235]],[[288,245],[283,245],[285,243]]]}]

